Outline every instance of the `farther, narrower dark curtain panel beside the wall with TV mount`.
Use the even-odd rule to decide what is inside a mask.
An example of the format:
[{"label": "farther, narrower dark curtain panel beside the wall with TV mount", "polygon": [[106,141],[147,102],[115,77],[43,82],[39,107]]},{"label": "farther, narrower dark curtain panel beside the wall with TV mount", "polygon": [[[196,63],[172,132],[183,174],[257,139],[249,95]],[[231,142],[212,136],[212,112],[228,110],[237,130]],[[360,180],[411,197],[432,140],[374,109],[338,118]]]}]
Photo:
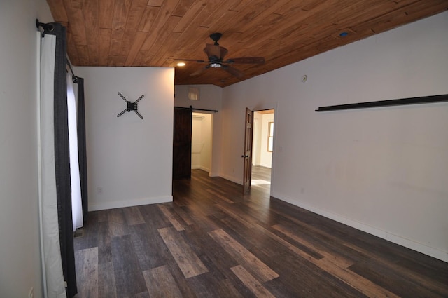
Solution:
[{"label": "farther, narrower dark curtain panel beside the wall with TV mount", "polygon": [[83,200],[83,220],[87,222],[88,194],[87,194],[87,150],[85,149],[85,104],[84,79],[78,77],[78,160],[79,176],[81,180],[81,198]]}]

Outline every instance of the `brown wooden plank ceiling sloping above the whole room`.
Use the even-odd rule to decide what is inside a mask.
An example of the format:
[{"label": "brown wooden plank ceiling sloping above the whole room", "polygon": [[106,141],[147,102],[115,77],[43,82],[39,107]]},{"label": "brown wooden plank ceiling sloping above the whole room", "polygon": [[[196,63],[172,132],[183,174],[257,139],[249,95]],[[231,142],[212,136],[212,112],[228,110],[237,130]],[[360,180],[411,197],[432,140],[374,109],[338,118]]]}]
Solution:
[{"label": "brown wooden plank ceiling sloping above the whole room", "polygon": [[[447,0],[47,0],[67,27],[73,65],[176,67],[175,83],[229,86],[332,48],[448,9]],[[209,34],[232,57],[265,57],[263,65],[234,64],[193,72],[207,63]],[[346,36],[339,36],[346,32]]]}]

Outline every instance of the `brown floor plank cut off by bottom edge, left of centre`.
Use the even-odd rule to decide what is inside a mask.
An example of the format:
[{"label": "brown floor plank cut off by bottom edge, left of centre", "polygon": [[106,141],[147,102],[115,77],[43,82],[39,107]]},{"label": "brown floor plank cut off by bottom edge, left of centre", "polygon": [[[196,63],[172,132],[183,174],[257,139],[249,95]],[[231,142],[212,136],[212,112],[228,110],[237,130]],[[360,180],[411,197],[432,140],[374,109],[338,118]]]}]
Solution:
[{"label": "brown floor plank cut off by bottom edge, left of centre", "polygon": [[143,276],[151,298],[183,297],[167,266],[143,271]]}]

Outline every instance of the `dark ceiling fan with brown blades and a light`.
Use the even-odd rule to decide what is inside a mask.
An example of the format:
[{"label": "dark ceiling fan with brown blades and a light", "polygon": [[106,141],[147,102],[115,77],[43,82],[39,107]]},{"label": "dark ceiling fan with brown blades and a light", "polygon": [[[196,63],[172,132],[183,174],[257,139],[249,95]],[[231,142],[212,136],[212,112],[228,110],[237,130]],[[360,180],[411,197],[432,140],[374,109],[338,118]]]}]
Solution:
[{"label": "dark ceiling fan with brown blades and a light", "polygon": [[[222,33],[212,33],[210,34],[211,40],[214,41],[214,44],[207,43],[204,48],[204,53],[207,54],[207,57],[209,58],[208,61],[205,60],[190,60],[190,61],[196,61],[200,63],[207,63],[206,67],[203,67],[196,72],[193,72],[193,74],[190,74],[190,76],[198,76],[202,74],[206,69],[209,68],[221,68],[224,69],[226,72],[232,74],[233,76],[236,76],[237,78],[241,78],[244,76],[244,73],[241,72],[239,69],[236,69],[235,67],[232,67],[231,65],[234,63],[241,63],[241,64],[263,64],[265,63],[264,57],[238,57],[238,58],[230,58],[228,60],[224,60],[225,55],[227,55],[228,50],[227,48],[224,48],[219,45],[218,41],[221,39],[221,36],[223,36]],[[180,59],[179,59],[180,60]],[[188,60],[184,60],[188,61]]]}]

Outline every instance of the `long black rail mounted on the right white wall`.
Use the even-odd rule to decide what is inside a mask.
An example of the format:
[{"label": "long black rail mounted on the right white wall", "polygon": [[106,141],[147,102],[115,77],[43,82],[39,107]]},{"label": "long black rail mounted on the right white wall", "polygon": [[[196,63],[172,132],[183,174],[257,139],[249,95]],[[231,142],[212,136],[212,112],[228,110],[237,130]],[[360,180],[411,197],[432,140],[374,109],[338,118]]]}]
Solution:
[{"label": "long black rail mounted on the right white wall", "polygon": [[342,109],[365,109],[370,107],[388,107],[405,104],[430,104],[448,102],[448,94],[401,98],[399,100],[380,100],[377,102],[358,102],[356,104],[338,104],[334,106],[318,107],[315,111],[338,111]]}]

